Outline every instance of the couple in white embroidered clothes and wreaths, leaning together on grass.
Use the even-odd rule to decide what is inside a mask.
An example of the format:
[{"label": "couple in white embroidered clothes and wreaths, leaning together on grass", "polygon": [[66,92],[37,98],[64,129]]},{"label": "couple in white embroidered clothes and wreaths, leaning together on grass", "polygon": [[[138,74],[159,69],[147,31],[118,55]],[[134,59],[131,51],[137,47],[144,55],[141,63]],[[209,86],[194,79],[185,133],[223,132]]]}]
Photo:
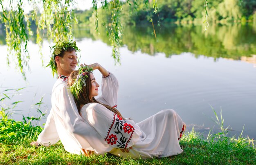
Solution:
[{"label": "couple in white embroidered clothes and wreaths, leaning together on grass", "polygon": [[[183,150],[179,140],[186,125],[172,109],[159,111],[140,123],[117,110],[118,81],[98,63],[78,70],[76,42],[58,42],[49,63],[58,79],[52,89],[52,109],[45,128],[32,145],[53,145],[61,140],[74,154],[105,154],[124,158],[167,157]],[[102,74],[101,91],[93,76]]]}]

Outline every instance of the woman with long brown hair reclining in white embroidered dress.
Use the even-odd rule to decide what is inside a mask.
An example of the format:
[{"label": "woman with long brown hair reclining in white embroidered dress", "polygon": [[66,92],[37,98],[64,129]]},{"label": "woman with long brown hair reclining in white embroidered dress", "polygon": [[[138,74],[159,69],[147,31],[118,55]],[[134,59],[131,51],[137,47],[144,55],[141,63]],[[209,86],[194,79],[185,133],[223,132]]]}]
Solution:
[{"label": "woman with long brown hair reclining in white embroidered dress", "polygon": [[[124,119],[117,109],[104,103],[108,99],[106,94],[99,97],[98,101],[94,98],[98,96],[99,84],[92,71],[93,68],[82,66],[70,74],[68,83],[76,106],[80,109],[79,114],[112,147],[111,154],[128,158],[152,158],[177,155],[183,151],[179,140],[186,125],[174,110],[159,111],[140,123]],[[102,86],[111,88],[108,91],[117,94],[118,85],[112,84],[117,83],[117,79],[112,73],[108,76],[112,81],[104,78]],[[116,97],[115,94],[111,94],[112,97]],[[99,151],[101,145],[105,144],[99,143],[99,148],[95,150]],[[122,152],[124,150],[128,152]]]}]

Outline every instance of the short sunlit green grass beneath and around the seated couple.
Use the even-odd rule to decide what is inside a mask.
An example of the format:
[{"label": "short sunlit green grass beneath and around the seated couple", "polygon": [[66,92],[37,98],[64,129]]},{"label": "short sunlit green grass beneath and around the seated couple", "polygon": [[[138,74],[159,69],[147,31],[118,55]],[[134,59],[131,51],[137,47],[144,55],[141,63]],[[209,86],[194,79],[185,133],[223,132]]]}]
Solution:
[{"label": "short sunlit green grass beneath and around the seated couple", "polygon": [[70,154],[58,142],[51,147],[35,148],[29,145],[36,140],[37,129],[23,137],[2,139],[0,164],[256,164],[256,148],[248,138],[228,138],[211,134],[186,132],[180,145],[184,152],[177,156],[154,159],[117,158],[111,155],[89,156]]}]

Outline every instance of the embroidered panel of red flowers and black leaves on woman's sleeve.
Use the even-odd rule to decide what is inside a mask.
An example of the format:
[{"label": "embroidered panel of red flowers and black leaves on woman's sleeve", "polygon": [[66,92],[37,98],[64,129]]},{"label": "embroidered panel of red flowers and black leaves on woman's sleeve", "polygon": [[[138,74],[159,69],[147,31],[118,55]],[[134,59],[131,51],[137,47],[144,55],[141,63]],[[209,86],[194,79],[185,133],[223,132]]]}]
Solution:
[{"label": "embroidered panel of red flowers and black leaves on woman's sleeve", "polygon": [[126,148],[134,132],[134,127],[124,121],[119,115],[114,114],[106,138],[108,144],[118,148]]}]

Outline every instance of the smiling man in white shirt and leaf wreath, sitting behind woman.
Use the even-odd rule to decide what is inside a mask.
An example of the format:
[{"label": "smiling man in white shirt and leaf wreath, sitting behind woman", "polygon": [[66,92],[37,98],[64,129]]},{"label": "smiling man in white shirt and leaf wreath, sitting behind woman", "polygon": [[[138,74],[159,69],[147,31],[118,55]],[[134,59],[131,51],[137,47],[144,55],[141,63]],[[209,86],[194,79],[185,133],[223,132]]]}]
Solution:
[{"label": "smiling man in white shirt and leaf wreath, sitting behind woman", "polygon": [[[48,66],[52,68],[53,74],[58,74],[58,79],[52,89],[52,109],[47,117],[44,130],[38,136],[37,142],[32,142],[31,145],[49,146],[61,140],[68,152],[88,154],[85,153],[85,150],[91,150],[96,154],[101,154],[95,150],[97,143],[93,140],[94,138],[102,139],[101,136],[93,127],[83,121],[70,89],[67,87],[67,78],[76,69],[76,51],[80,50],[76,46],[76,42],[72,41],[58,42],[52,49],[54,49],[53,56]],[[109,72],[97,63],[89,66],[93,69],[99,69],[103,76],[109,75]],[[117,105],[116,97],[101,101],[110,106]],[[104,144],[105,151],[109,152],[112,149],[104,139],[101,143]],[[84,146],[91,147],[86,148]]]}]

